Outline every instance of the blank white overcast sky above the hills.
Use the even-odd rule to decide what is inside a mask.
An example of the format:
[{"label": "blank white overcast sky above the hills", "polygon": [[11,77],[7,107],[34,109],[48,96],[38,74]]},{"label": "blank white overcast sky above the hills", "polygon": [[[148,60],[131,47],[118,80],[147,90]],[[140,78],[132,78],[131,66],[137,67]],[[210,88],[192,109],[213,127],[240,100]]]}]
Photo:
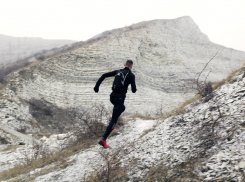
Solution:
[{"label": "blank white overcast sky above the hills", "polygon": [[0,34],[81,41],[181,16],[190,16],[212,42],[245,51],[244,0],[0,0]]}]

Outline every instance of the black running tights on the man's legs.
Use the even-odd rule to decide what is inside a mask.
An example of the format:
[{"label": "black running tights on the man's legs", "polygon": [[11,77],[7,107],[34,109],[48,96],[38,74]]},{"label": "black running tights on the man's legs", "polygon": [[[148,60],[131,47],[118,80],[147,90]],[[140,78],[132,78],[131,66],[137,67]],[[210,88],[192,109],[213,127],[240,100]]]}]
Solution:
[{"label": "black running tights on the man's legs", "polygon": [[112,113],[111,121],[109,123],[109,126],[106,129],[105,134],[103,135],[104,139],[107,139],[107,137],[110,135],[114,126],[117,124],[117,120],[118,120],[119,116],[125,110],[124,98],[118,98],[118,97],[112,97],[111,96],[110,101],[114,105],[114,107],[113,107],[113,113]]}]

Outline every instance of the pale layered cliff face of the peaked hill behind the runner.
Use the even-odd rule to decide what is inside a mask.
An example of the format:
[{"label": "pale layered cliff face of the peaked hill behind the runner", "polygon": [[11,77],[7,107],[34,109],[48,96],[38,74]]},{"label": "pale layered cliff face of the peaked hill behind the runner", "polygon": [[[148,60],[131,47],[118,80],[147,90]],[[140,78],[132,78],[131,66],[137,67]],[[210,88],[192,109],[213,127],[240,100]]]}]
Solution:
[{"label": "pale layered cliff face of the peaked hill behind the runner", "polygon": [[211,43],[189,17],[153,20],[113,31],[14,73],[8,82],[25,100],[44,98],[63,108],[86,107],[91,101],[108,105],[113,79],[104,80],[98,94],[93,91],[96,81],[105,72],[122,69],[125,61],[132,59],[138,91],[132,94],[128,90],[126,111],[153,114],[163,108],[167,112],[193,97],[193,81],[217,51],[201,80],[207,75],[211,81],[225,78],[245,63],[245,53]]}]

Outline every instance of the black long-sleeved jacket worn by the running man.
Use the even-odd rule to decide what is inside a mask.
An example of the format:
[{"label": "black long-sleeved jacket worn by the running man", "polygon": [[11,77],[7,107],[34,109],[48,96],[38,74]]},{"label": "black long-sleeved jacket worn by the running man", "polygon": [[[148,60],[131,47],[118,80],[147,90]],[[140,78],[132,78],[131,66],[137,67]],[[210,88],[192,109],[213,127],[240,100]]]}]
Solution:
[{"label": "black long-sleeved jacket worn by the running man", "polygon": [[[103,74],[100,79],[97,81],[95,87],[94,87],[94,91],[95,92],[98,92],[99,91],[99,87],[100,87],[100,84],[103,82],[103,80],[106,78],[106,77],[112,77],[112,76],[115,76],[117,74],[117,71],[118,70],[115,70],[115,71],[112,71],[112,72],[108,72],[108,73],[105,73]],[[111,96],[114,96],[114,97],[119,97],[119,98],[126,98],[126,93],[127,93],[127,90],[128,90],[128,85],[131,84],[131,89],[132,89],[132,92],[135,93],[137,91],[136,89],[136,85],[135,85],[135,76],[134,74],[131,72],[131,70],[127,67],[125,67],[124,69],[121,70],[123,72],[124,75],[127,75],[126,79],[125,79],[125,82],[124,82],[124,87],[123,89],[119,92],[119,93],[114,93],[112,91],[111,93]]]}]

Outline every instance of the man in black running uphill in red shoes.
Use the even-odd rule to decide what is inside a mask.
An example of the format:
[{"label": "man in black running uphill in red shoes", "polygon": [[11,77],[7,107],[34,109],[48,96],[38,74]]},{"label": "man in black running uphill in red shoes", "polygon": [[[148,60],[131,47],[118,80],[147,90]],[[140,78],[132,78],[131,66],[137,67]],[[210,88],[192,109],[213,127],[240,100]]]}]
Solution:
[{"label": "man in black running uphill in red shoes", "polygon": [[[133,67],[133,61],[132,60],[127,60],[126,63],[124,64],[124,66],[125,66],[124,69],[115,70],[115,71],[103,74],[100,77],[100,79],[97,81],[97,83],[96,83],[96,85],[94,87],[94,91],[96,93],[98,93],[99,92],[99,86],[100,86],[100,84],[103,82],[103,80],[105,78],[112,77],[112,76],[118,76],[118,75],[120,76],[120,74],[121,74],[122,87],[118,91],[115,90],[114,88],[112,88],[112,93],[110,95],[110,101],[114,105],[112,118],[111,118],[111,121],[109,123],[109,126],[107,127],[107,129],[105,131],[105,134],[103,135],[103,137],[99,141],[99,144],[102,145],[104,148],[109,148],[110,147],[109,145],[106,144],[106,139],[110,135],[110,133],[113,130],[113,128],[115,127],[119,116],[125,110],[124,100],[126,98],[128,85],[131,84],[131,89],[132,89],[133,93],[135,93],[136,90],[137,90],[136,89],[136,85],[135,85],[135,76],[131,72],[131,69]],[[114,80],[114,83],[115,83],[115,80]],[[115,87],[115,86],[113,85],[113,87]]]}]

